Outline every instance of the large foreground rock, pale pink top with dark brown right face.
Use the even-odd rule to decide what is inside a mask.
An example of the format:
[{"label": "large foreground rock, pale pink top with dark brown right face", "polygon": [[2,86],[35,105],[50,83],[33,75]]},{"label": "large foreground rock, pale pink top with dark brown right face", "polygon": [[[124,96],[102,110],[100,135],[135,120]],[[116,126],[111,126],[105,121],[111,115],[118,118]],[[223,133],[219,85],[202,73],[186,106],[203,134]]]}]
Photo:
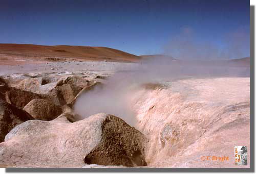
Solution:
[{"label": "large foreground rock, pale pink top with dark brown right face", "polygon": [[0,163],[16,167],[141,166],[146,165],[144,142],[142,133],[114,115],[101,113],[73,123],[65,116],[29,120],[0,143]]}]

